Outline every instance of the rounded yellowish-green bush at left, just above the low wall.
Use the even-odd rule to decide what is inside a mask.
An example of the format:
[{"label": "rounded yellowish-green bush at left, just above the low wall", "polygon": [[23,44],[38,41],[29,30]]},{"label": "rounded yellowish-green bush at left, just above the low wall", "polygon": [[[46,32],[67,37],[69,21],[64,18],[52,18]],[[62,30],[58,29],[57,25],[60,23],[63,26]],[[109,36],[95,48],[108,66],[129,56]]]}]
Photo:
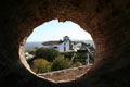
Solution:
[{"label": "rounded yellowish-green bush at left, just above the low wall", "polygon": [[51,64],[44,59],[36,59],[32,61],[32,71],[37,74],[50,72]]}]

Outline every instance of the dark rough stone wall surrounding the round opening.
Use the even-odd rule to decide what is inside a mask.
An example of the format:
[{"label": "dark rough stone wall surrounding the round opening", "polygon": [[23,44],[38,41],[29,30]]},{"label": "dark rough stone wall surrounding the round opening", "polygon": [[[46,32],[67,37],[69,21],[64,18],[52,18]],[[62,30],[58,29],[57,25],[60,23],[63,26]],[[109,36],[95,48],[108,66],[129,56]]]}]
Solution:
[{"label": "dark rough stone wall surrounding the round opening", "polygon": [[[24,59],[32,29],[54,18],[79,24],[95,42],[94,65],[75,82],[40,78]],[[130,0],[0,0],[0,29],[3,87],[130,87]]]}]

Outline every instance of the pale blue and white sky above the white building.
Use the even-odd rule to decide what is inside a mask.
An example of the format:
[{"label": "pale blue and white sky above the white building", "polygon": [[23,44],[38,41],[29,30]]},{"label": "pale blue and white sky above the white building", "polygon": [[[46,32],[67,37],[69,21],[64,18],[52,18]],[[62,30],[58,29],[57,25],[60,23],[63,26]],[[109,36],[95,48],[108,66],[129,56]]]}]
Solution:
[{"label": "pale blue and white sky above the white building", "polygon": [[28,37],[27,42],[60,40],[64,36],[68,36],[73,40],[92,40],[91,35],[84,32],[78,24],[70,21],[63,23],[58,22],[58,20],[52,20],[36,27]]}]

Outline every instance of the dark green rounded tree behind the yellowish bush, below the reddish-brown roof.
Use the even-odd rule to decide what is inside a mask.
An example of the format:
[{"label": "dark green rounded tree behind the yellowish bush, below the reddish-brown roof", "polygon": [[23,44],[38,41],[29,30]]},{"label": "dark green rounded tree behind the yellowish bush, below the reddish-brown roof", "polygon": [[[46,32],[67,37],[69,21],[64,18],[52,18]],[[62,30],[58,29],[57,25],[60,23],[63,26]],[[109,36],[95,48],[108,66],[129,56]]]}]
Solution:
[{"label": "dark green rounded tree behind the yellowish bush, below the reddish-brown roof", "polygon": [[60,52],[52,48],[39,48],[35,52],[35,58],[44,58],[48,61],[53,61]]}]

